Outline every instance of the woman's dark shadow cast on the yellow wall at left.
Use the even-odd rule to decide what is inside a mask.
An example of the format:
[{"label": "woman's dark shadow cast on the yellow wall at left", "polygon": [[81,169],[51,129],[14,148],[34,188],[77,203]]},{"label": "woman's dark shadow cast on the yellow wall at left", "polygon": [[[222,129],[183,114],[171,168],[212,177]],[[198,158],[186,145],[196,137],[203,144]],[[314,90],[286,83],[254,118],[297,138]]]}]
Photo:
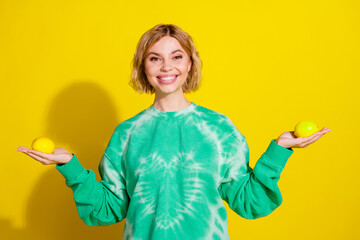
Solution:
[{"label": "woman's dark shadow cast on the yellow wall at left", "polygon": [[[96,84],[82,81],[56,96],[49,112],[47,131],[59,147],[71,146],[81,164],[100,180],[98,165],[113,131],[119,124],[107,93]],[[71,151],[68,149],[68,151]],[[35,160],[34,160],[35,161]],[[79,217],[72,191],[55,169],[47,171],[28,200],[26,228],[14,229],[0,220],[6,239],[121,239],[125,219],[110,226],[87,226]]]}]

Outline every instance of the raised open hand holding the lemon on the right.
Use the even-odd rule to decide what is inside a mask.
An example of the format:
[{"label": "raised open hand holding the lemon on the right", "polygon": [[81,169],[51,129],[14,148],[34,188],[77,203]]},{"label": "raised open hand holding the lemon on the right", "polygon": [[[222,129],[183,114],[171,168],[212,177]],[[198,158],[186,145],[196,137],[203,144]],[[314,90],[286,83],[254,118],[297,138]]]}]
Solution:
[{"label": "raised open hand holding the lemon on the right", "polygon": [[319,140],[325,133],[330,131],[331,130],[329,128],[324,127],[321,131],[318,131],[308,137],[296,137],[294,131],[284,132],[275,140],[275,142],[284,148],[305,148]]}]

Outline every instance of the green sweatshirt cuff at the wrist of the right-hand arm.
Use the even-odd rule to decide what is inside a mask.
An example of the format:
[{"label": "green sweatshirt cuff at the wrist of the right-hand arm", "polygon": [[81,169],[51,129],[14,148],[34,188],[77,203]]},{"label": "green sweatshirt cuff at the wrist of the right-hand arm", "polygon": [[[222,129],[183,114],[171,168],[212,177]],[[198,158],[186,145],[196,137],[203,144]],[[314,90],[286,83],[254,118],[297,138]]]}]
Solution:
[{"label": "green sweatshirt cuff at the wrist of the right-hand arm", "polygon": [[280,146],[275,142],[275,139],[272,139],[264,154],[277,165],[285,166],[293,153],[294,150]]}]

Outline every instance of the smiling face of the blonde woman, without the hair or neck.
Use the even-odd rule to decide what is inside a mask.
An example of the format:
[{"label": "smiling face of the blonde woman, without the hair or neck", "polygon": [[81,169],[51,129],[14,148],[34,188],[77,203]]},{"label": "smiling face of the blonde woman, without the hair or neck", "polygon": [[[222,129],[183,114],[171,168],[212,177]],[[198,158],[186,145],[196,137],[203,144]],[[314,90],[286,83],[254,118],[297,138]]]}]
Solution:
[{"label": "smiling face of the blonde woman, without the hair or neck", "polygon": [[145,74],[155,94],[182,93],[190,68],[189,55],[176,38],[170,36],[152,45],[145,58]]}]

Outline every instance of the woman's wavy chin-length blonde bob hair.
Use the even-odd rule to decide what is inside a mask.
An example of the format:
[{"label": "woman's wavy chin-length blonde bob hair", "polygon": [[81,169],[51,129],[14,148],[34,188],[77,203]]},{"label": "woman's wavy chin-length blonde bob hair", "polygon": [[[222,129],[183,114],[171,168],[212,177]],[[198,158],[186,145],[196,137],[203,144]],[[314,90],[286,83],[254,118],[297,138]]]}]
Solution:
[{"label": "woman's wavy chin-length blonde bob hair", "polygon": [[190,57],[191,68],[182,86],[183,92],[189,93],[198,90],[202,69],[199,52],[195,48],[191,36],[173,24],[158,24],[141,36],[132,60],[132,72],[129,85],[140,94],[144,92],[150,94],[155,93],[155,88],[151,86],[147,80],[144,61],[150,47],[164,36],[176,38]]}]

